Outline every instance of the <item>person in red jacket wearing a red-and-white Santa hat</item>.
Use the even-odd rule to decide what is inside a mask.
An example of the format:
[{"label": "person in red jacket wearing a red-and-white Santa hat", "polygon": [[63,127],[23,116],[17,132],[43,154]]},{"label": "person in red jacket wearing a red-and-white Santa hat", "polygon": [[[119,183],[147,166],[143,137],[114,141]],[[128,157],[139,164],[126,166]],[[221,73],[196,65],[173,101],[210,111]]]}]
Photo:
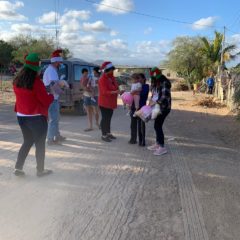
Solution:
[{"label": "person in red jacket wearing a red-and-white Santa hat", "polygon": [[102,140],[111,142],[116,139],[111,133],[111,119],[114,109],[117,108],[118,84],[113,75],[115,67],[111,62],[104,62],[101,66],[103,74],[99,79],[98,105],[101,111]]}]

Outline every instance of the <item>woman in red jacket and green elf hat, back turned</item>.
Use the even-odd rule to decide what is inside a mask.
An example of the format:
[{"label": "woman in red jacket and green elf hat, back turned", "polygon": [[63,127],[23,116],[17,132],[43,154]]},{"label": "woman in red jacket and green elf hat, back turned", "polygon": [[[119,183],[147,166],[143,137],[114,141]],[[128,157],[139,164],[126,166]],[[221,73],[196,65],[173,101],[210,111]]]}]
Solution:
[{"label": "woman in red jacket and green elf hat, back turned", "polygon": [[25,175],[23,166],[33,144],[36,147],[37,176],[52,173],[44,168],[44,161],[48,107],[53,102],[53,95],[47,93],[40,80],[39,63],[38,54],[28,54],[23,69],[13,80],[16,95],[15,112],[23,135],[23,144],[18,152],[14,170],[16,176]]}]

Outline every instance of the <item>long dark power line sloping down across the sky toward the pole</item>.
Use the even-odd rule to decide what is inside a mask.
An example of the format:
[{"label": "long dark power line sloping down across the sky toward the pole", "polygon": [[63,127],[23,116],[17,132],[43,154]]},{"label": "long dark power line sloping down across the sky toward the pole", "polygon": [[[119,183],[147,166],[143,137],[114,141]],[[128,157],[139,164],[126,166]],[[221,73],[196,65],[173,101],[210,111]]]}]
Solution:
[{"label": "long dark power line sloping down across the sky toward the pole", "polygon": [[191,23],[191,22],[181,21],[181,20],[172,19],[172,18],[165,18],[165,17],[154,16],[154,15],[150,15],[150,14],[147,14],[147,13],[142,13],[142,12],[137,12],[137,11],[133,11],[133,10],[127,10],[127,9],[123,9],[123,8],[119,8],[119,7],[110,6],[108,4],[97,3],[97,2],[92,1],[92,0],[84,0],[84,1],[96,4],[96,5],[109,7],[109,8],[112,8],[112,9],[117,9],[117,10],[120,10],[122,12],[127,12],[127,13],[131,13],[131,14],[139,15],[139,16],[144,16],[144,17],[155,18],[155,19],[168,21],[168,22],[175,22],[175,23],[181,23],[181,24],[187,24],[187,25],[197,25],[197,26],[210,27],[210,28],[222,28],[222,27],[219,27],[219,26],[212,26],[212,25],[199,24],[199,23]]}]

